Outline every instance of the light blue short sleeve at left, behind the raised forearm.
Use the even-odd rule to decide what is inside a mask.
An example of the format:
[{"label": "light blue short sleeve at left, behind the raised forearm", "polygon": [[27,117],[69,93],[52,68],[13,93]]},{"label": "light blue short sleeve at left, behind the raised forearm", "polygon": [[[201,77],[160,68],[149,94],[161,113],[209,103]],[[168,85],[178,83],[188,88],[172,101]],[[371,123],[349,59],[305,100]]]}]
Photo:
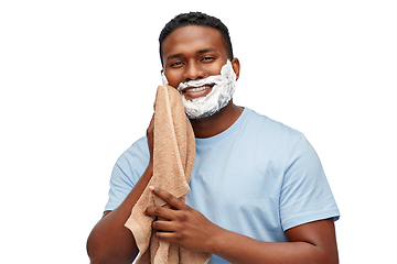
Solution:
[{"label": "light blue short sleeve at left, behind the raised forearm", "polygon": [[128,196],[149,164],[147,139],[135,142],[117,160],[110,177],[109,199],[105,211],[115,210]]}]

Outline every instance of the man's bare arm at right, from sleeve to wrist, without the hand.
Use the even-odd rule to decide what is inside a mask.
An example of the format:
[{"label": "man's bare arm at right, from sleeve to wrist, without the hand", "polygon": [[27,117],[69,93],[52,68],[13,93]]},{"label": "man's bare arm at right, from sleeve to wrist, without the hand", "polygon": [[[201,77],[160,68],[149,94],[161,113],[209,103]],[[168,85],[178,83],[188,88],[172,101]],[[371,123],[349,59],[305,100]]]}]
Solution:
[{"label": "man's bare arm at right, from sleeve to wrist, without the hand", "polygon": [[215,254],[232,263],[337,264],[333,219],[298,226],[286,231],[290,242],[261,242],[230,231],[219,232]]}]

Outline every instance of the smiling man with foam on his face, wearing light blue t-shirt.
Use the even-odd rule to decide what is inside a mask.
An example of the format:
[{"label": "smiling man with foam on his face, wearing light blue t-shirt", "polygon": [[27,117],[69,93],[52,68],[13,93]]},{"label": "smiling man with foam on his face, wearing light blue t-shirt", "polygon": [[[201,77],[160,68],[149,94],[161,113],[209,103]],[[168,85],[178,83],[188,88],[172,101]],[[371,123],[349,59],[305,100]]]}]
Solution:
[{"label": "smiling man with foam on his face, wearing light blue t-shirt", "polygon": [[[164,82],[184,101],[196,158],[186,204],[150,187],[172,208],[142,212],[164,219],[152,224],[158,238],[213,253],[210,263],[337,263],[339,211],[320,161],[300,132],[233,103],[240,65],[226,26],[180,14],[160,35],[160,56]],[[138,254],[124,224],[152,175],[152,131],[153,121],[116,163],[87,242],[92,263],[131,263]]]}]

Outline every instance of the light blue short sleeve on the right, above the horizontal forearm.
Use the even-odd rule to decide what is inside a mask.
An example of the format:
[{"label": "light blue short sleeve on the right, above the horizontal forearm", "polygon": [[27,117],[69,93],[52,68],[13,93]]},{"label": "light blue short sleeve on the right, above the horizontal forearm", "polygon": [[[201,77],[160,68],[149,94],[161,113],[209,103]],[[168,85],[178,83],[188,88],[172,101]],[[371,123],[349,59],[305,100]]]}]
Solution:
[{"label": "light blue short sleeve on the right, above the horizontal forearm", "polygon": [[328,218],[340,212],[319,156],[303,134],[290,147],[280,194],[282,229]]}]

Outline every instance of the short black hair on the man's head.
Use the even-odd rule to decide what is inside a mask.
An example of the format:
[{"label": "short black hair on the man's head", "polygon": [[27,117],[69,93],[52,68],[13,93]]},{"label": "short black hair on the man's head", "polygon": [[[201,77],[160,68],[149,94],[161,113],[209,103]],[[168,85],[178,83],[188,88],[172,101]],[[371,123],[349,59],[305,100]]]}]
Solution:
[{"label": "short black hair on the man's head", "polygon": [[232,41],[226,25],[215,16],[211,16],[202,12],[190,12],[176,15],[170,22],[168,22],[164,29],[161,31],[159,36],[161,64],[163,64],[161,45],[165,37],[170,35],[174,30],[187,25],[204,25],[218,30],[221,32],[222,41],[226,47],[227,56],[230,61],[233,59]]}]

